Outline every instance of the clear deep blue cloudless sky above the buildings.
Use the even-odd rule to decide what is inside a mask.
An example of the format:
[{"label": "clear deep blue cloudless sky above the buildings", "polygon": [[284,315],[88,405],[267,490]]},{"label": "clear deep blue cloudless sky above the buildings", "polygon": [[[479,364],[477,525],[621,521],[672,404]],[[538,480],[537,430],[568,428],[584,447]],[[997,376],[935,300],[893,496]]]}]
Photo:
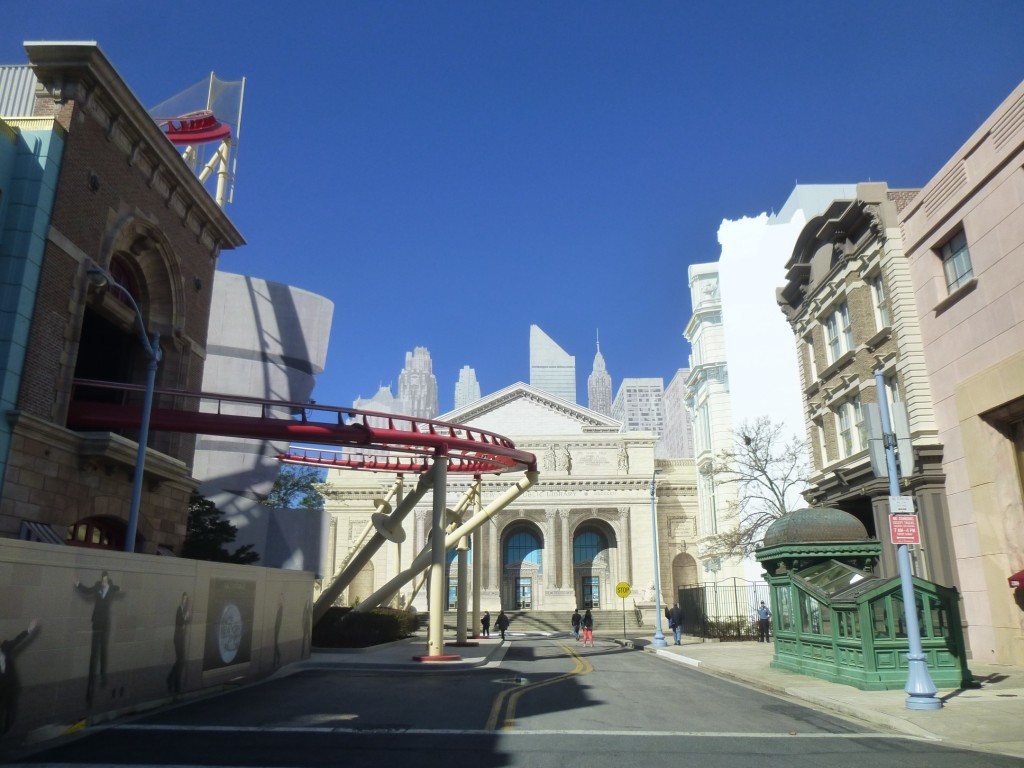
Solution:
[{"label": "clear deep blue cloudless sky above the buildings", "polygon": [[[335,302],[314,397],[430,349],[528,381],[529,325],[617,387],[687,365],[686,268],[794,184],[925,184],[1024,80],[1024,2],[5,4],[26,40],[95,40],[153,105],[247,78],[220,268]],[[779,275],[779,285],[782,274]],[[774,291],[775,286],[765,286]]]}]

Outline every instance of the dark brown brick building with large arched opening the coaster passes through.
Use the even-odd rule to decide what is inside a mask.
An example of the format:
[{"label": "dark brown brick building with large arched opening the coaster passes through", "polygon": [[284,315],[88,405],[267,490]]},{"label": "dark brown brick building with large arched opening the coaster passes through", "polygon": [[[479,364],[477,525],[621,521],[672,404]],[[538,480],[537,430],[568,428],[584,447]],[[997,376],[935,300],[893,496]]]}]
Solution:
[{"label": "dark brown brick building with large arched opening the coaster passes through", "polygon": [[[94,43],[26,49],[33,114],[52,117],[66,138],[29,291],[16,407],[6,414],[0,536],[25,537],[26,523],[41,523],[69,543],[119,548],[136,435],[72,431],[68,411],[80,396],[76,379],[141,384],[147,357],[134,308],[119,291],[91,285],[87,272],[98,266],[113,275],[148,334],[160,334],[158,389],[197,391],[217,258],[244,240]],[[20,116],[0,117],[16,125]],[[154,404],[162,404],[159,394]],[[173,551],[196,485],[195,436],[151,434],[148,446],[136,549]]]}]

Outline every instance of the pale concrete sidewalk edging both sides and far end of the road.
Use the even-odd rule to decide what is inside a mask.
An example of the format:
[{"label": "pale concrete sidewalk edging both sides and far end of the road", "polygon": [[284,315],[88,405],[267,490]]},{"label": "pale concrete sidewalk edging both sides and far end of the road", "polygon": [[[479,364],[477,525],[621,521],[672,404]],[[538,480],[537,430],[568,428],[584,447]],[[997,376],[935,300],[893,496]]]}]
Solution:
[{"label": "pale concrete sidewalk edging both sides and far end of the road", "polygon": [[[455,645],[449,638],[444,651],[460,656],[458,660],[417,662],[414,657],[426,652],[426,636],[421,632],[415,637],[373,648],[316,650],[308,659],[291,665],[288,670],[369,666],[435,671],[493,666],[501,663],[516,639],[531,637],[541,635],[508,633],[509,639],[504,643],[496,635],[473,640],[473,644],[466,646]],[[568,633],[551,637],[567,638]],[[862,691],[772,669],[771,643],[719,643],[684,638],[682,645],[673,645],[670,635],[667,647],[654,648],[651,637],[598,636],[595,639],[599,644],[614,643],[654,653],[676,664],[900,733],[1024,758],[1024,669],[1020,667],[972,663],[970,669],[980,687],[940,690],[943,708],[923,712],[906,709],[906,693],[902,690]]]}]

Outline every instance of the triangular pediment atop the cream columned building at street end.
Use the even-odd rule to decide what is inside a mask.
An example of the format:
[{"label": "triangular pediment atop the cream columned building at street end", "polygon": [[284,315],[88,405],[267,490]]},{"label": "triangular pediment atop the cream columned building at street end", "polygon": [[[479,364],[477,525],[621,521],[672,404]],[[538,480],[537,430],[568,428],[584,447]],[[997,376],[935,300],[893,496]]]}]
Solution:
[{"label": "triangular pediment atop the cream columned building at street end", "polygon": [[618,432],[622,422],[517,382],[438,417],[502,435],[592,434]]}]

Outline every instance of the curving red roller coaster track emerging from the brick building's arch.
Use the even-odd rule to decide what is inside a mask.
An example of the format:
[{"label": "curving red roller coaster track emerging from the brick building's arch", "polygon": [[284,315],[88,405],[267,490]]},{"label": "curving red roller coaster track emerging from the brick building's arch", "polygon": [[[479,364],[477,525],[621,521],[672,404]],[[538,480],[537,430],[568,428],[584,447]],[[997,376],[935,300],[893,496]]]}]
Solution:
[{"label": "curving red roller coaster track emerging from the brick building's arch", "polygon": [[[137,428],[142,407],[128,400],[136,394],[141,400],[143,392],[144,387],[136,384],[76,380],[68,426],[79,430]],[[292,447],[280,457],[291,464],[422,473],[430,469],[435,457],[445,456],[447,471],[461,474],[537,469],[537,457],[520,451],[512,440],[462,424],[212,392],[158,388],[154,395],[153,430],[332,446]],[[370,420],[386,426],[368,426]]]}]

